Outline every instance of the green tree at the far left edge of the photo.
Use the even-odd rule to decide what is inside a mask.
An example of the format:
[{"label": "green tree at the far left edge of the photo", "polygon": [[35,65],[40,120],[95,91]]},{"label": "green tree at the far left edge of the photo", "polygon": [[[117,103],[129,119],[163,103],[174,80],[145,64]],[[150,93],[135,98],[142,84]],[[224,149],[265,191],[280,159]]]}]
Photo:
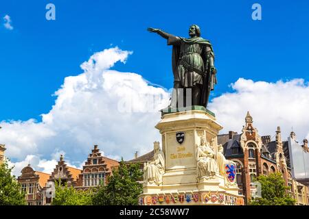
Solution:
[{"label": "green tree at the far left edge of the photo", "polygon": [[0,166],[0,205],[26,205],[25,193],[11,172],[5,160]]}]

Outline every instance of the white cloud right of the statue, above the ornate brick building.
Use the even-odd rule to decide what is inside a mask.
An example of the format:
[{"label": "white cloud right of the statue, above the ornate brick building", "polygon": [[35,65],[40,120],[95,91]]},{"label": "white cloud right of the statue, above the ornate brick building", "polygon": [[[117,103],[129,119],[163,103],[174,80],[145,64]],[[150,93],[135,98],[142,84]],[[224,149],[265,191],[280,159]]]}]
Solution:
[{"label": "white cloud right of the statue, above the ornate brick building", "polygon": [[214,98],[209,110],[224,129],[240,132],[247,111],[261,135],[275,135],[277,126],[282,128],[286,139],[292,130],[300,140],[308,138],[309,130],[309,84],[304,79],[290,81],[252,81],[240,78],[231,84],[232,92]]}]

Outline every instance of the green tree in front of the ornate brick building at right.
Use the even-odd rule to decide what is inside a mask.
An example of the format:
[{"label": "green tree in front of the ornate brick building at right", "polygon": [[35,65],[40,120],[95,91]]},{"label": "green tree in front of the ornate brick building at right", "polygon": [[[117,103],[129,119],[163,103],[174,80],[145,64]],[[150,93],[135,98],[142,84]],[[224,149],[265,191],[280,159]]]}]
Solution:
[{"label": "green tree in front of the ornate brick building at right", "polygon": [[260,176],[257,181],[261,183],[262,198],[254,198],[250,205],[295,205],[295,199],[286,194],[289,187],[285,185],[281,173]]}]

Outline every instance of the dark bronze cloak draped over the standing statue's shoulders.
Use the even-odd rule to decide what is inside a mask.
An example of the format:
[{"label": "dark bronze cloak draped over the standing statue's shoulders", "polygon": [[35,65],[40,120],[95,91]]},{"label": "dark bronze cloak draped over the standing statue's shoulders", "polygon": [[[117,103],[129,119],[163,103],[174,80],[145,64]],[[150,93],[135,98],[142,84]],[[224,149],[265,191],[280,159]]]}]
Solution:
[{"label": "dark bronze cloak draped over the standing statue's shoulders", "polygon": [[[174,37],[175,36],[170,36]],[[201,37],[198,38],[179,38],[181,40],[182,43],[187,43],[187,44],[203,44],[206,45],[210,48],[210,53],[207,54],[201,54],[201,57],[203,58],[203,62],[204,62],[204,67],[205,67],[205,74],[203,75],[203,87],[202,87],[202,92],[201,92],[201,105],[203,105],[204,107],[207,107],[207,103],[208,103],[208,99],[209,99],[209,93],[211,90],[214,90],[214,84],[217,83],[216,81],[216,75],[211,75],[210,73],[210,66],[209,66],[209,55],[211,55],[212,57],[214,57],[214,50],[212,49],[212,45],[209,42],[209,40],[205,40]],[[170,41],[170,40],[168,40]],[[170,44],[168,42],[168,44]],[[178,70],[177,67],[179,65],[179,60],[180,60],[180,54],[181,54],[181,44],[172,44],[173,45],[173,49],[172,49],[172,70],[173,70],[173,74],[174,77],[176,75],[178,75]]]}]

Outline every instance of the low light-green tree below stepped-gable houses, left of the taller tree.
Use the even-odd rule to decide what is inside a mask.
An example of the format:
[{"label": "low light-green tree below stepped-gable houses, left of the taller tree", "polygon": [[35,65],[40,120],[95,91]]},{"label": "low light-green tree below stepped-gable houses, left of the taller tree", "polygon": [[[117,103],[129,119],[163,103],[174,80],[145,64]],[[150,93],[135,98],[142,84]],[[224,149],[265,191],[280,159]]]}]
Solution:
[{"label": "low light-green tree below stepped-gable houses, left of the taller tree", "polygon": [[92,205],[92,190],[77,191],[73,186],[61,186],[56,182],[55,197],[52,205]]}]

